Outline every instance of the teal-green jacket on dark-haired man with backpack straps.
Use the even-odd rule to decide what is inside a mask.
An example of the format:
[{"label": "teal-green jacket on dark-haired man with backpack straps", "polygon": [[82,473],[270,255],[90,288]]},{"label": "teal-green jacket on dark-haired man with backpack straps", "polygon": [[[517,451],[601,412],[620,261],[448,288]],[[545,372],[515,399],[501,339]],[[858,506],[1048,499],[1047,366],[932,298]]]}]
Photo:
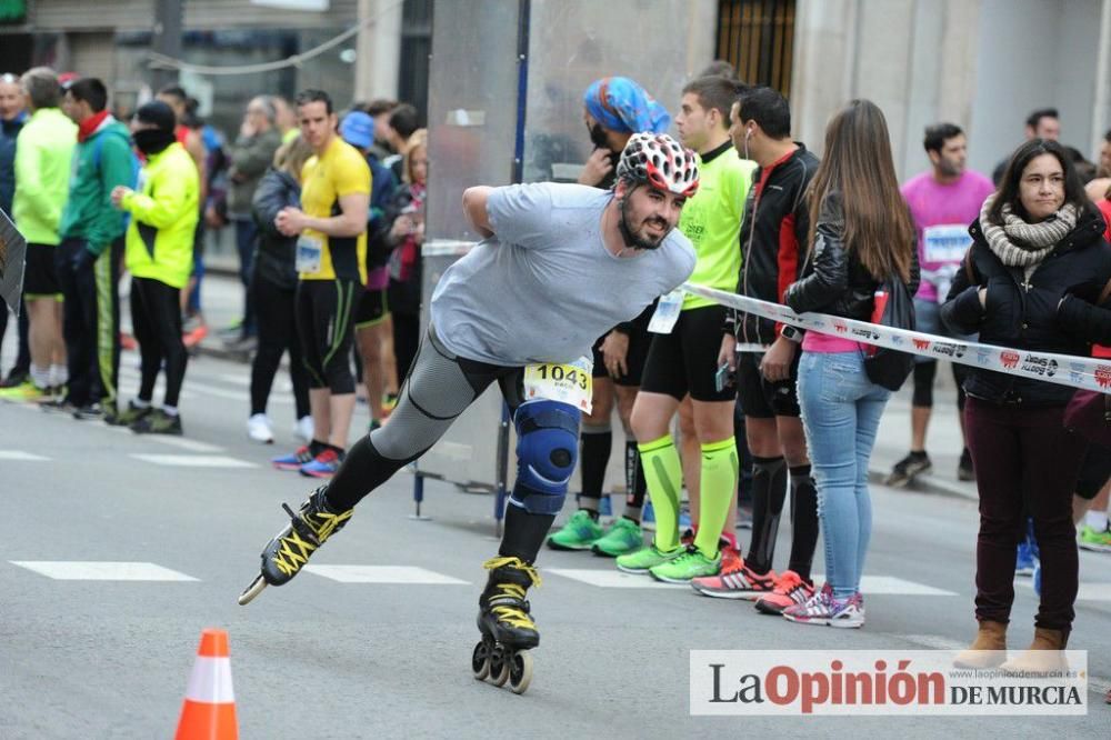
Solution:
[{"label": "teal-green jacket on dark-haired man with backpack straps", "polygon": [[137,170],[131,133],[109,116],[77,146],[61,238],[83,239],[90,252],[100,254],[127,226],[124,216],[112,208],[112,189],[133,188]]}]

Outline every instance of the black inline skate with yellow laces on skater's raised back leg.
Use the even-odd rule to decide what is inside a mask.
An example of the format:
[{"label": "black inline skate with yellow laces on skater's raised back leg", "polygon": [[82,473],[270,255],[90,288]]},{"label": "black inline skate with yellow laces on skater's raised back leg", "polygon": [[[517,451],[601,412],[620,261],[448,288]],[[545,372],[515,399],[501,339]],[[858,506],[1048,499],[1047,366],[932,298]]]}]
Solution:
[{"label": "black inline skate with yellow laces on skater's raised back leg", "polygon": [[317,548],[347,524],[354,509],[332,511],[324,501],[327,491],[327,486],[318,488],[296,513],[288,504],[282,504],[290,523],[262,551],[261,572],[239,597],[241,606],[249,603],[267,586],[281,586],[291,580]]}]

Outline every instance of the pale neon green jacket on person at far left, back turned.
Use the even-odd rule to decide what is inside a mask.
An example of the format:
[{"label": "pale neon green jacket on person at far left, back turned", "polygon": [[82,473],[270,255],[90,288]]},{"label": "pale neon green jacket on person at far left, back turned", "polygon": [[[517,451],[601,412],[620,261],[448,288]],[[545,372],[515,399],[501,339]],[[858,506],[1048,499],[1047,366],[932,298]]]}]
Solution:
[{"label": "pale neon green jacket on person at far left, back turned", "polygon": [[27,119],[16,144],[16,197],[12,220],[34,244],[56,246],[62,208],[69,196],[70,160],[77,123],[57,108],[40,108]]}]

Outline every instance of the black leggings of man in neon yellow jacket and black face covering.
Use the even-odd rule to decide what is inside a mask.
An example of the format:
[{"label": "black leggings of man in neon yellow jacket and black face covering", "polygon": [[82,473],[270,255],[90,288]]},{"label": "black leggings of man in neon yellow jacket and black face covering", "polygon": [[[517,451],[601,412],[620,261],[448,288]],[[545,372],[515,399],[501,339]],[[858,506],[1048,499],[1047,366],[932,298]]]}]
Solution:
[{"label": "black leggings of man in neon yellow jacket and black face covering", "polygon": [[177,408],[181,383],[186,379],[189,354],[181,341],[181,291],[153,278],[131,279],[131,324],[139,356],[142,380],[139,400],[150,402],[154,396],[158,371],[166,364],[166,398],[163,406]]}]

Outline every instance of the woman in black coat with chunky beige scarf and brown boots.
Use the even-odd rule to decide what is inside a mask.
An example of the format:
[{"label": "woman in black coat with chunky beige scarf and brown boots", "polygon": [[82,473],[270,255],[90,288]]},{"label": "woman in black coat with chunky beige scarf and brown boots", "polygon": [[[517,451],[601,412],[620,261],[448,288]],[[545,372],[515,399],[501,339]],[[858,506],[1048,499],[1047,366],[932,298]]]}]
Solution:
[{"label": "woman in black coat with chunky beige scarf and brown boots", "polygon": [[[1055,141],[1033,139],[1011,158],[1000,190],[984,201],[941,318],[953,331],[980,333],[1011,348],[1004,363],[1063,368],[1038,352],[1089,356],[1091,341],[1062,331],[1062,296],[1093,301],[1111,278],[1103,219],[1084,196],[1072,160]],[[1077,532],[1072,494],[1087,441],[1064,428],[1073,389],[981,368],[964,381],[969,449],[980,491],[975,616],[979,633],[959,662],[998,666],[1014,600],[1014,553],[1024,531],[1023,503],[1034,521],[1044,578],[1034,641],[1004,669],[1059,667],[1077,597]]]}]

